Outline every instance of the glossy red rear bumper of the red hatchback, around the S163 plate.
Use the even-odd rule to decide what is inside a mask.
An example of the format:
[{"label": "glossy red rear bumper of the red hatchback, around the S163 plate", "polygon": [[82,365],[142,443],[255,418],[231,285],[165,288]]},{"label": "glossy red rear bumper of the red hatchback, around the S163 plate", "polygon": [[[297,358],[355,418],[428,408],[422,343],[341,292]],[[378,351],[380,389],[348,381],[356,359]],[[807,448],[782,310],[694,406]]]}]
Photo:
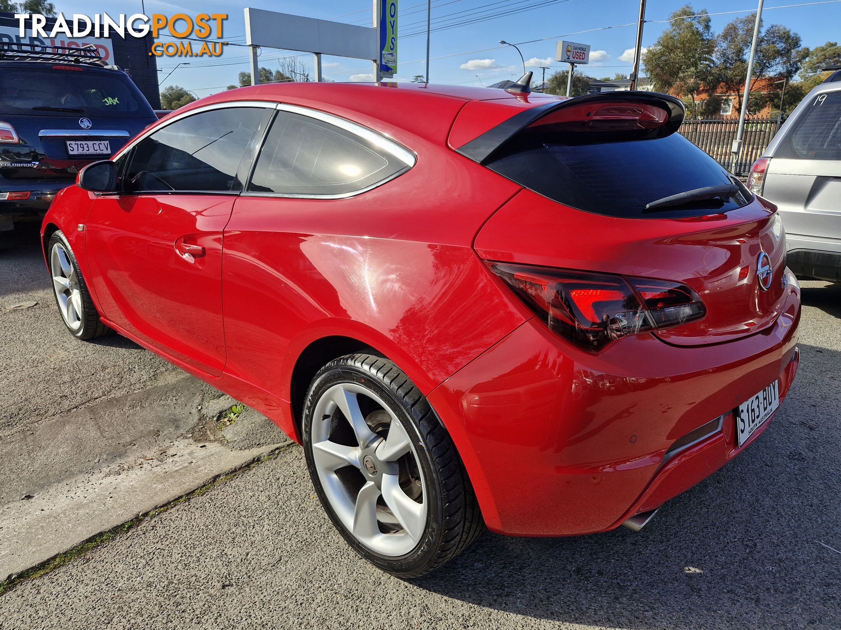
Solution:
[{"label": "glossy red rear bumper of the red hatchback, around the S163 plate", "polygon": [[[490,529],[569,536],[616,528],[696,485],[747,448],[733,408],[797,369],[800,293],[775,324],[726,344],[676,347],[650,334],[600,354],[523,324],[431,392]],[[677,440],[724,416],[722,430],[669,459]],[[665,459],[665,461],[664,461]]]}]

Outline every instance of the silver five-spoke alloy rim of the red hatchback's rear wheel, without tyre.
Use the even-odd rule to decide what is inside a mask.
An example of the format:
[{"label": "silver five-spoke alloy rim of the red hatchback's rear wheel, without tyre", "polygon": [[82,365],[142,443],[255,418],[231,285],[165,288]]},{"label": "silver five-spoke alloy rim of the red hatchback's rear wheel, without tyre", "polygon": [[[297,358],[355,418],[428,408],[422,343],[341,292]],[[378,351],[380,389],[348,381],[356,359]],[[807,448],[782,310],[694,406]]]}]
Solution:
[{"label": "silver five-spoke alloy rim of the red hatchback's rear wheel, without tyre", "polygon": [[377,554],[410,553],[426,529],[426,486],[415,447],[379,396],[339,383],[315,405],[310,437],[327,501]]}]

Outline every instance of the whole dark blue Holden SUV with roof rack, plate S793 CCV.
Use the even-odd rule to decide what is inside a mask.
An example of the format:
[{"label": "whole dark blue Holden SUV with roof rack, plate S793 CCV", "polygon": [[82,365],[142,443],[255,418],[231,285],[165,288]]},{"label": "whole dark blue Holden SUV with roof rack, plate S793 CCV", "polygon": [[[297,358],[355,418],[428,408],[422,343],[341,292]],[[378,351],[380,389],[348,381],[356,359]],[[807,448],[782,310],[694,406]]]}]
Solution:
[{"label": "whole dark blue Holden SUV with roof rack, plate S793 CCV", "polygon": [[0,42],[0,234],[40,221],[84,165],[157,120],[98,50]]}]

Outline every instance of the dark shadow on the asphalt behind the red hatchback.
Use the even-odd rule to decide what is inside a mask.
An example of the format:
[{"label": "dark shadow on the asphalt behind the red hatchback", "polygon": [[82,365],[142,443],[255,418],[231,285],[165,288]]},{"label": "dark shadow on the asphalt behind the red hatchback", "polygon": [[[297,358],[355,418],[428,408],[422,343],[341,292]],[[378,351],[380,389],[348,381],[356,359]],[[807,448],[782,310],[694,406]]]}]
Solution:
[{"label": "dark shadow on the asphalt behind the red hatchback", "polygon": [[841,353],[801,345],[801,358],[791,395],[765,433],[667,502],[642,532],[486,533],[415,585],[556,622],[841,627],[841,552],[821,544],[841,549]]}]

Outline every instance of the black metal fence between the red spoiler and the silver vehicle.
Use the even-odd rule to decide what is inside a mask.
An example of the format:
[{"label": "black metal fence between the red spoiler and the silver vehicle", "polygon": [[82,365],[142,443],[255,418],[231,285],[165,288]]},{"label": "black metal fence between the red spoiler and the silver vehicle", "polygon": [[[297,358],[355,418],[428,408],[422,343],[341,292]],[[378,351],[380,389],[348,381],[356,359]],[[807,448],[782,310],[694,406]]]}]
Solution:
[{"label": "black metal fence between the red spoiler and the silver vehicle", "polygon": [[[747,176],[765,147],[777,131],[777,119],[765,116],[748,116],[744,121],[742,152],[734,175]],[[728,171],[733,163],[733,140],[738,131],[738,118],[686,118],[680,125],[680,134],[696,144]]]}]

